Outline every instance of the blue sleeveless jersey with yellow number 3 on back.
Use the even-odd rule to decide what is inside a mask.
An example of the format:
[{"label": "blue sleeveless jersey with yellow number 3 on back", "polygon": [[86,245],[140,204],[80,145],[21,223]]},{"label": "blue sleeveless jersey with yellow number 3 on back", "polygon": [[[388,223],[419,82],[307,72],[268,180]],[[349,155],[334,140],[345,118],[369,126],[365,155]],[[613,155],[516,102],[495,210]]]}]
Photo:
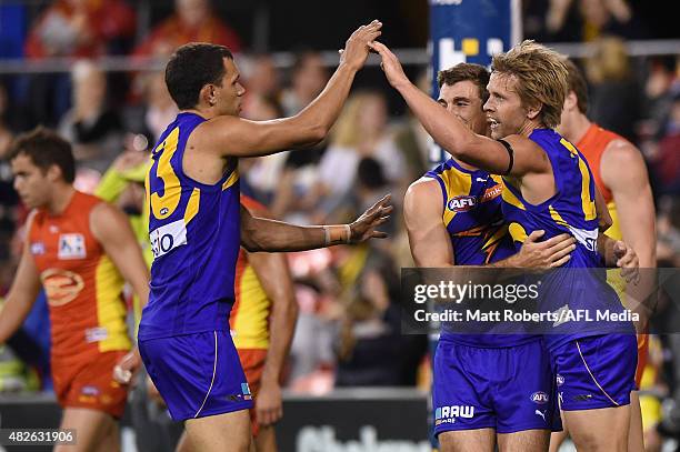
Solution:
[{"label": "blue sleeveless jersey with yellow number 3 on back", "polygon": [[153,263],[140,340],[229,329],[240,247],[239,174],[237,159],[213,185],[184,174],[187,140],[203,121],[178,114],[152,152],[146,187]]}]

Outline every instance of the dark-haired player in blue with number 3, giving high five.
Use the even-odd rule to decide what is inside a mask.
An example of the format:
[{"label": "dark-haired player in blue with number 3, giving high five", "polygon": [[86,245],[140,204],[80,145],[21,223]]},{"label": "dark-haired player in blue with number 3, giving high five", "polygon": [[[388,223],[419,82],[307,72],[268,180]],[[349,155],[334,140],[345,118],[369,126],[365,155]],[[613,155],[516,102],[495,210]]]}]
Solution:
[{"label": "dark-haired player in blue with number 3, giving high five", "polygon": [[252,395],[227,322],[240,245],[294,251],[386,237],[376,227],[391,210],[387,197],[351,224],[296,227],[242,208],[237,170],[239,157],[323,139],[381,27],[373,21],[352,33],[326,89],[292,118],[239,118],[246,90],[224,47],[182,46],[168,62],[166,83],[181,111],[152,151],[146,183],[154,260],[139,349],[196,450],[247,451],[250,443]]}]

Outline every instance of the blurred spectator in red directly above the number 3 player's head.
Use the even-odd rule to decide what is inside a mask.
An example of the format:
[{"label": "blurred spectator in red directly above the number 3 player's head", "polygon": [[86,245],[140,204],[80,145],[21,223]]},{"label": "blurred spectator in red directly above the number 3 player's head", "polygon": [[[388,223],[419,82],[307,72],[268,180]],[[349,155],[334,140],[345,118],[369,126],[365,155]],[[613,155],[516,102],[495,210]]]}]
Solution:
[{"label": "blurred spectator in red directly above the number 3 player's head", "polygon": [[151,30],[134,54],[166,57],[193,41],[227,46],[234,53],[241,50],[239,37],[212,12],[209,0],[176,0],[174,13]]}]

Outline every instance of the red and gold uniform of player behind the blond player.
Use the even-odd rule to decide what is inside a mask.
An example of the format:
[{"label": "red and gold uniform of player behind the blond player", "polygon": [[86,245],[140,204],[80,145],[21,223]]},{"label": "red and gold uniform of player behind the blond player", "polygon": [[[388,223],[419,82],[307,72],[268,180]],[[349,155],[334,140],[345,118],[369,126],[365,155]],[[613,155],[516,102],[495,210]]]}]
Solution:
[{"label": "red and gold uniform of player behind the blond player", "polygon": [[[621,228],[619,224],[619,215],[617,213],[617,205],[613,201],[613,195],[611,194],[611,190],[604,185],[602,182],[602,177],[600,173],[600,163],[602,160],[602,154],[604,150],[609,145],[610,142],[614,140],[626,140],[623,137],[602,129],[600,125],[594,122],[590,124],[590,128],[581,138],[581,140],[577,143],[577,148],[588,160],[588,164],[590,165],[590,170],[594,177],[596,184],[598,185],[598,190],[602,193],[604,198],[604,202],[607,202],[607,209],[609,210],[609,214],[611,215],[612,224],[611,228],[607,230],[607,235],[614,240],[622,240]],[[618,272],[610,272],[608,275],[608,281],[614,287],[617,292],[621,294],[626,290],[626,283],[618,275]],[[640,382],[642,380],[642,372],[644,371],[644,365],[647,364],[647,353],[648,353],[648,337],[647,334],[638,334],[638,368],[636,369],[636,385],[639,388]]]}]

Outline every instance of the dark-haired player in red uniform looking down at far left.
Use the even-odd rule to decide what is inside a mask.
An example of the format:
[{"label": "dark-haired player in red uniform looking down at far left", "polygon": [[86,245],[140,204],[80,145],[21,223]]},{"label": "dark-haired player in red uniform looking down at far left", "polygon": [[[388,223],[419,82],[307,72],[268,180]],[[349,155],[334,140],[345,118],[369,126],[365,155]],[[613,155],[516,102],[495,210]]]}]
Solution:
[{"label": "dark-haired player in red uniform looking down at far left", "polygon": [[39,128],[17,138],[10,161],[14,188],[33,210],[19,270],[0,311],[0,343],[21,325],[42,285],[54,392],[63,408],[60,428],[77,431],[79,451],[117,451],[117,421],[128,391],[114,381],[113,370],[121,361],[139,362],[137,353],[129,353],[122,289],[127,280],[146,303],[149,271],[126,215],[73,188],[76,163],[68,141]]}]

